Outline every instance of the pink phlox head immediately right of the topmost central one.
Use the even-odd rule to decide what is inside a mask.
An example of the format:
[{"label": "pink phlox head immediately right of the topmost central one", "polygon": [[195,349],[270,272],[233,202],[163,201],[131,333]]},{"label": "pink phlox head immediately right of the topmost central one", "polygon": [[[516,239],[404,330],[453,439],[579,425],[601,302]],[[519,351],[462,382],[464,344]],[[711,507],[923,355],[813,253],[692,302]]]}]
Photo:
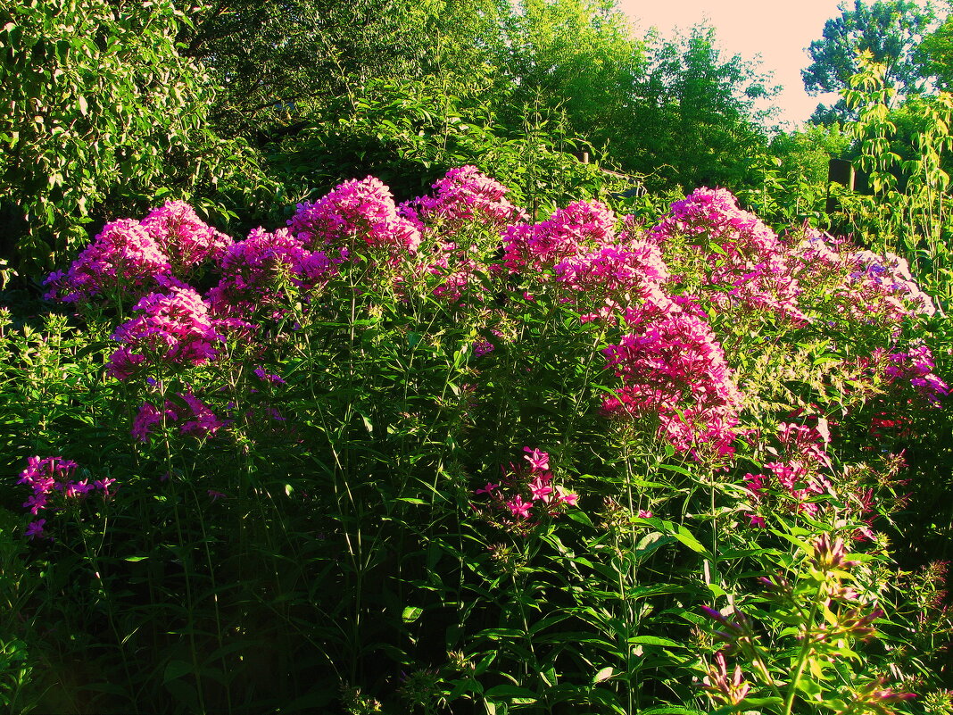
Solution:
[{"label": "pink phlox head immediately right of the topmost central one", "polygon": [[537,224],[517,224],[502,234],[503,264],[511,273],[544,271],[580,250],[611,243],[616,215],[598,201],[576,201]]}]

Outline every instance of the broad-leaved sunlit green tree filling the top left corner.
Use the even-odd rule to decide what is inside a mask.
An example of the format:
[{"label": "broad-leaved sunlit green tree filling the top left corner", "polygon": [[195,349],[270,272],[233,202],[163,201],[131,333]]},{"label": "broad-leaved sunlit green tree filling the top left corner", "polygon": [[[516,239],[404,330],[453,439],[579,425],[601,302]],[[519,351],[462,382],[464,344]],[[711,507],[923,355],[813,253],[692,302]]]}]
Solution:
[{"label": "broad-leaved sunlit green tree filling the top left corner", "polygon": [[85,224],[142,210],[157,194],[228,216],[274,184],[241,142],[208,127],[210,88],[175,44],[188,18],[172,2],[51,0],[0,4],[0,193],[10,251],[49,265],[88,237]]}]

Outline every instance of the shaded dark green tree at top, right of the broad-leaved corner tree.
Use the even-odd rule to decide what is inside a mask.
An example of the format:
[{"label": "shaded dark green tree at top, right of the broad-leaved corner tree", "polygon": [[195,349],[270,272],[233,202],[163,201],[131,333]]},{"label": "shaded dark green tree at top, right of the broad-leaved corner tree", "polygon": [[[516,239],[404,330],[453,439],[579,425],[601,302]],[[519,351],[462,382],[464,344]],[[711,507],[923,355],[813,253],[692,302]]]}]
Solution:
[{"label": "shaded dark green tree at top, right of the broad-leaved corner tree", "polygon": [[369,77],[415,73],[434,11],[403,0],[217,0],[178,39],[220,87],[216,126],[264,144]]}]

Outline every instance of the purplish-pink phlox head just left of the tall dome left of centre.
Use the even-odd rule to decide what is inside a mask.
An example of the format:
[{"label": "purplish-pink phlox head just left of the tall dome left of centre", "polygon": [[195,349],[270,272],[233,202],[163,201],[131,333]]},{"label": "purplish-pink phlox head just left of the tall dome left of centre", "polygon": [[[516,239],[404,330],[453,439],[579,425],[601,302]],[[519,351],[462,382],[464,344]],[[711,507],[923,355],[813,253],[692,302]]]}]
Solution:
[{"label": "purplish-pink phlox head just left of the tall dome left of centre", "polygon": [[251,316],[264,308],[278,317],[287,304],[286,287],[313,291],[336,274],[343,260],[343,255],[309,251],[287,229],[253,229],[222,255],[221,278],[209,291],[209,303],[216,316]]}]

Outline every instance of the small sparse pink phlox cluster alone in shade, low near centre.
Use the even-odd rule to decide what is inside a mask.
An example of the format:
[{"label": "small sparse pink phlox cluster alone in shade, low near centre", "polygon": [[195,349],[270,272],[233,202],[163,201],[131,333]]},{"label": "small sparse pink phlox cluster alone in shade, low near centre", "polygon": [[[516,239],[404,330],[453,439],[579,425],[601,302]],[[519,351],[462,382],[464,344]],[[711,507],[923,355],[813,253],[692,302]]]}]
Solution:
[{"label": "small sparse pink phlox cluster alone in shade, low near centre", "polygon": [[474,509],[492,523],[503,528],[525,533],[546,517],[555,518],[567,506],[578,504],[578,495],[553,483],[549,455],[538,449],[524,447],[526,465],[511,464],[503,471],[500,483],[487,483],[477,489],[476,496],[485,494],[486,501],[474,503]]}]

